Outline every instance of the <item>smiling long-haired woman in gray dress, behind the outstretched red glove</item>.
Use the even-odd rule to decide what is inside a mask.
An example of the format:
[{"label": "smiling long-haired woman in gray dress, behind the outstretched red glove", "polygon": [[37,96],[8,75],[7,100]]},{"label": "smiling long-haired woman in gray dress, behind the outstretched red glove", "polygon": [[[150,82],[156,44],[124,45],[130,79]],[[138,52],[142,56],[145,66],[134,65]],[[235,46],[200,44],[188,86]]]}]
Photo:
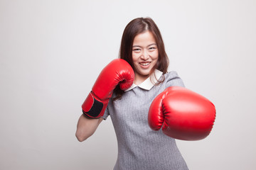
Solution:
[{"label": "smiling long-haired woman in gray dress, behind the outstretched red glove", "polygon": [[[122,35],[119,58],[129,66],[119,68],[121,64],[117,60],[104,69],[107,72],[102,71],[82,106],[84,114],[78,120],[78,140],[90,137],[110,115],[118,142],[114,169],[188,169],[174,138],[149,128],[148,113],[154,98],[169,86],[184,86],[176,72],[167,72],[169,60],[164,42],[151,18],[135,18],[128,23]],[[124,67],[128,70],[126,73],[123,73]],[[126,78],[114,85],[105,84],[107,91],[103,89],[102,94],[98,87],[105,79],[116,76],[110,75],[112,69],[121,69],[118,72],[123,75],[118,74],[118,78]],[[125,88],[119,86],[123,83]]]}]

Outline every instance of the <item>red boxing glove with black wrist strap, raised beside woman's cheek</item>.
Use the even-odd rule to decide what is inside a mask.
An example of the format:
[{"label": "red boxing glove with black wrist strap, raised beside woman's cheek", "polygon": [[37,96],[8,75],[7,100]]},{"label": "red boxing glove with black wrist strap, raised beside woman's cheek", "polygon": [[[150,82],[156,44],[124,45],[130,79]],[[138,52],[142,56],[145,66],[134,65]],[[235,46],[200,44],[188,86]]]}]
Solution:
[{"label": "red boxing glove with black wrist strap, raised beside woman's cheek", "polygon": [[134,71],[130,64],[122,59],[113,60],[100,72],[92,91],[82,103],[82,112],[90,118],[102,117],[117,84],[121,90],[126,90],[133,81]]}]

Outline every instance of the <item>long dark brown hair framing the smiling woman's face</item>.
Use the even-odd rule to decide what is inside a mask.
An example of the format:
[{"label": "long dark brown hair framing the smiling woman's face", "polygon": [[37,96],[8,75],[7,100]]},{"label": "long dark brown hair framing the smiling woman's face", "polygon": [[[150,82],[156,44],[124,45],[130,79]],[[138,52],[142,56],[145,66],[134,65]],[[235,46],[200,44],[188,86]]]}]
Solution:
[{"label": "long dark brown hair framing the smiling woman's face", "polygon": [[[149,30],[154,35],[154,39],[156,40],[156,45],[159,50],[159,59],[157,60],[154,69],[159,69],[165,74],[169,66],[169,59],[166,55],[164,41],[161,37],[160,30],[151,18],[135,18],[127,24],[122,35],[119,58],[126,60],[134,69],[134,63],[132,62],[132,45],[134,38],[136,35],[144,33],[147,30]],[[154,72],[154,69],[151,70],[150,74]],[[124,93],[124,91],[119,89],[119,86],[114,89],[114,92],[117,94],[117,96],[114,98],[114,101],[121,98],[122,94]]]}]

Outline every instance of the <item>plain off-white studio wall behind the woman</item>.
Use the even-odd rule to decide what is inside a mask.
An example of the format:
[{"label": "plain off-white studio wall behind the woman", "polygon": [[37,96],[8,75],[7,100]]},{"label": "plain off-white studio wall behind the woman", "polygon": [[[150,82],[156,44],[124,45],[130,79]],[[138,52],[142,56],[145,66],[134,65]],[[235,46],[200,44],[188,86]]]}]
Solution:
[{"label": "plain off-white studio wall behind the woman", "polygon": [[117,58],[124,27],[149,16],[169,71],[215,104],[210,135],[177,144],[190,169],[256,169],[256,1],[0,1],[0,169],[112,169],[111,119],[85,142],[81,104]]}]

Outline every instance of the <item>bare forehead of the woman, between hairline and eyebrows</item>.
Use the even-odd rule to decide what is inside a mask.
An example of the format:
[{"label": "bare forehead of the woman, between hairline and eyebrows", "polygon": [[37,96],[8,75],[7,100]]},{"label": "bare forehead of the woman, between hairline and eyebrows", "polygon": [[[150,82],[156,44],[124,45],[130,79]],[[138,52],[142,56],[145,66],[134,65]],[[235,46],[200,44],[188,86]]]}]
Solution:
[{"label": "bare forehead of the woman, between hairline and eyebrows", "polygon": [[139,33],[135,36],[133,45],[152,44],[156,43],[153,33],[147,30],[144,33]]}]

